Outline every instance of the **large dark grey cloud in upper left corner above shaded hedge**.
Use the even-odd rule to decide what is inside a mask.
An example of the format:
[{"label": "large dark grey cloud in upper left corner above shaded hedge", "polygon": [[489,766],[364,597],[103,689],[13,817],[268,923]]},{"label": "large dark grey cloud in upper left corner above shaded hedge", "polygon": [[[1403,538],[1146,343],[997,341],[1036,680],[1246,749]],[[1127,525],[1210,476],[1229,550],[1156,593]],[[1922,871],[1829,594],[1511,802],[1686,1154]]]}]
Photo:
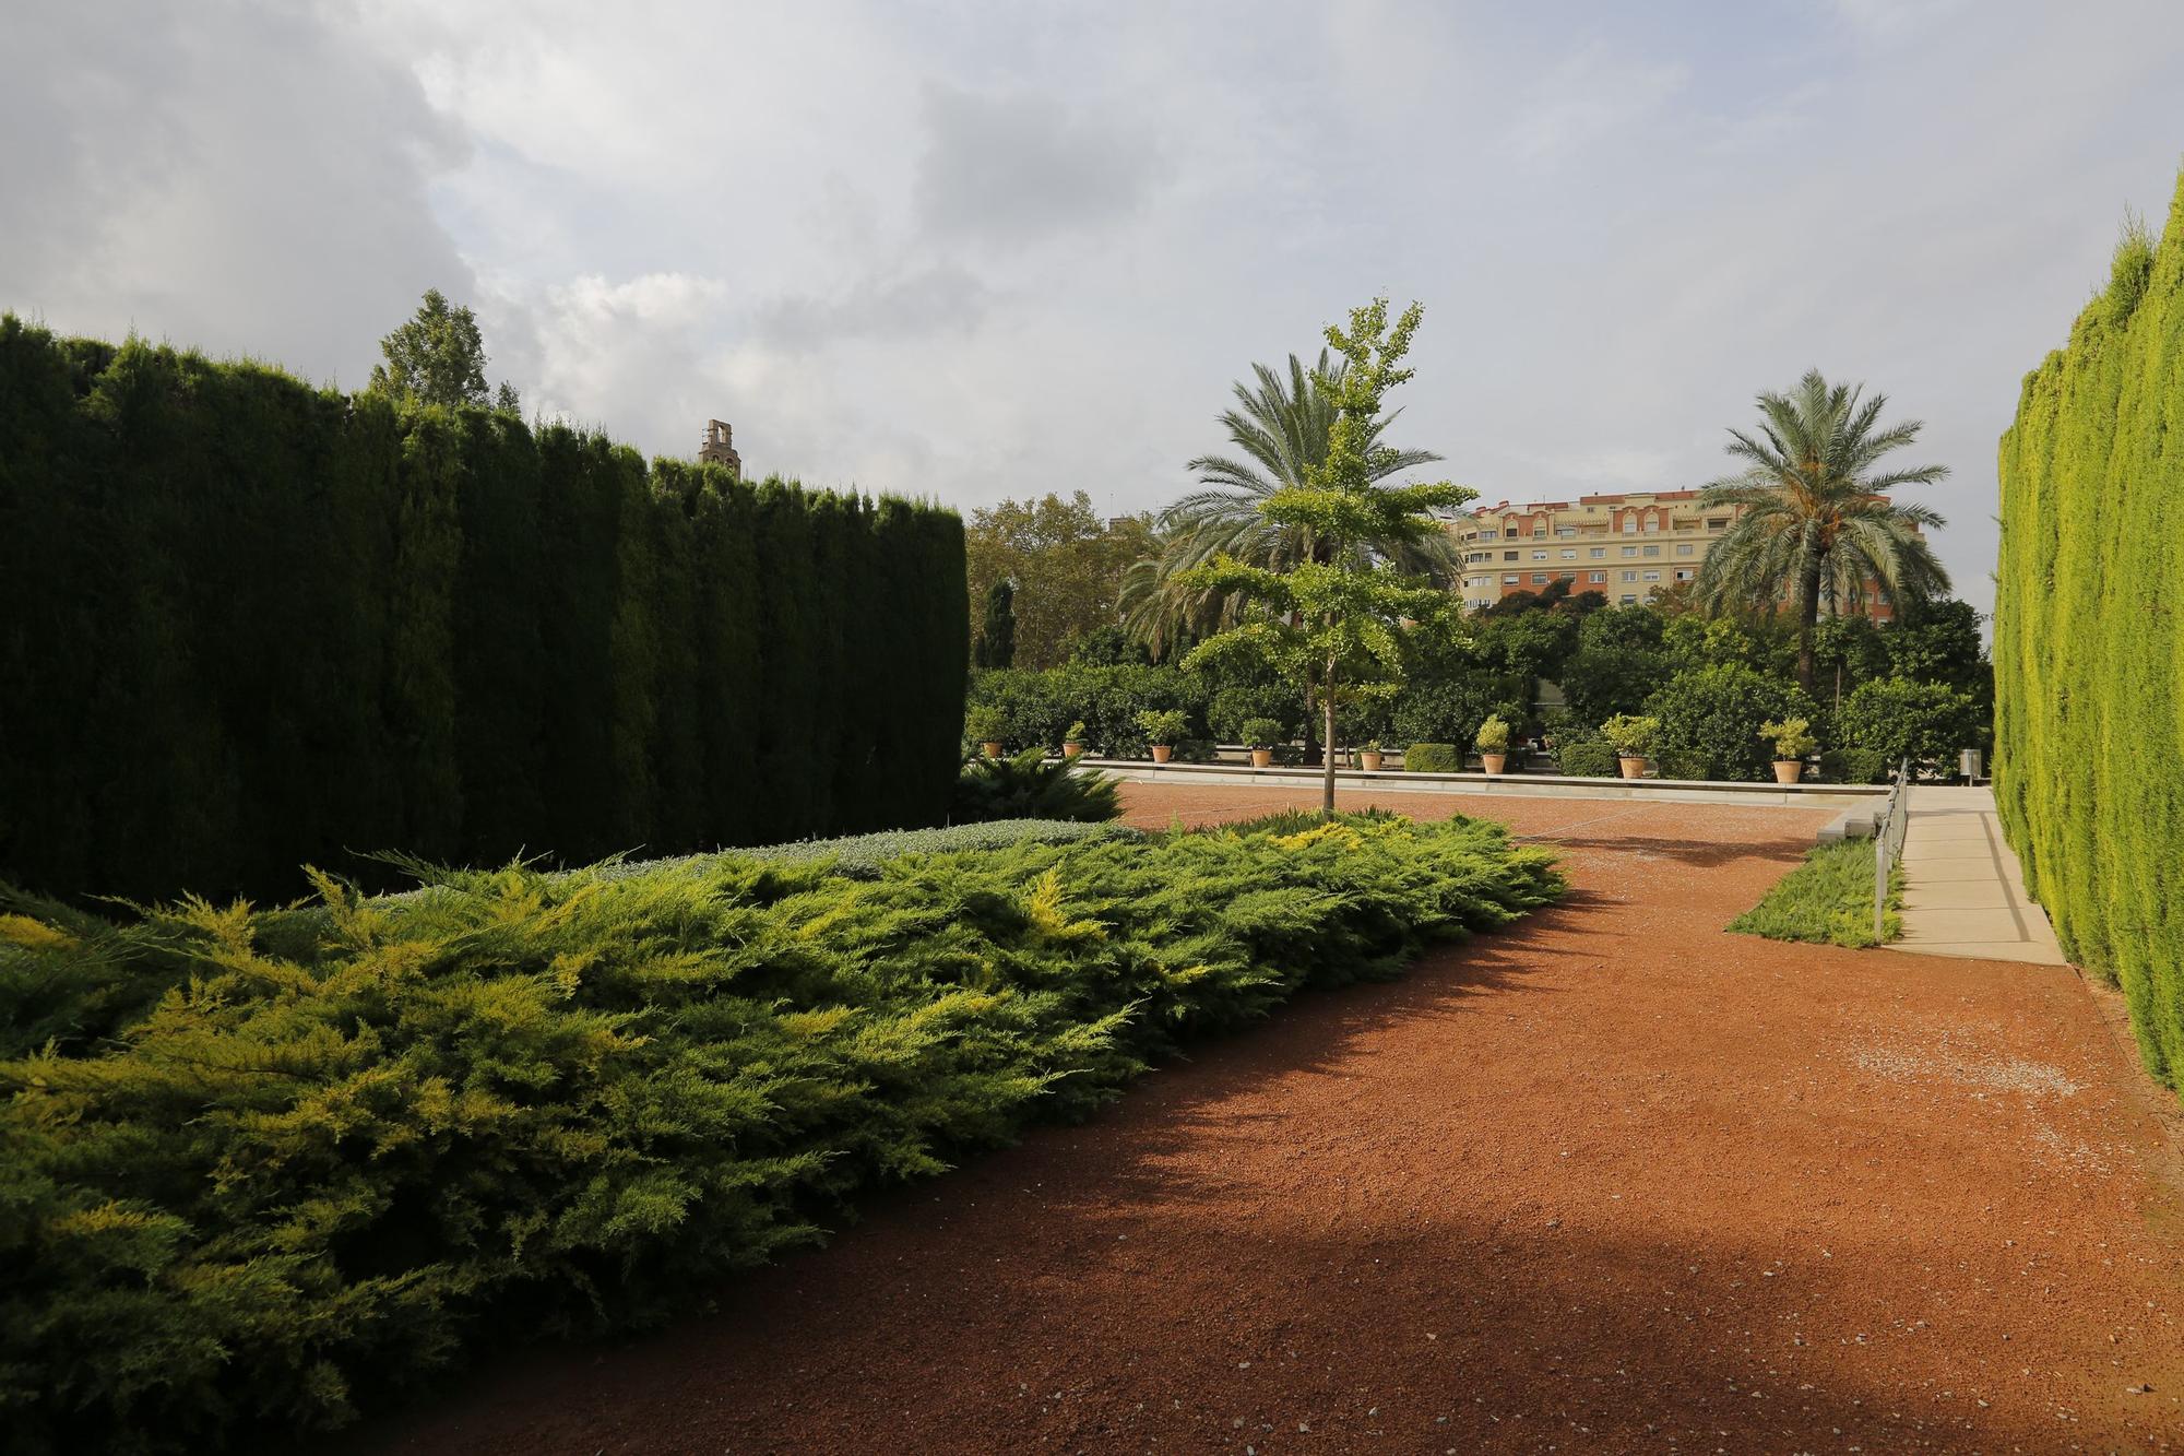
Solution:
[{"label": "large dark grey cloud in upper left corner above shaded hedge", "polygon": [[50,4],[9,39],[0,308],[356,385],[424,289],[472,291],[428,197],[461,131],[336,22]]}]

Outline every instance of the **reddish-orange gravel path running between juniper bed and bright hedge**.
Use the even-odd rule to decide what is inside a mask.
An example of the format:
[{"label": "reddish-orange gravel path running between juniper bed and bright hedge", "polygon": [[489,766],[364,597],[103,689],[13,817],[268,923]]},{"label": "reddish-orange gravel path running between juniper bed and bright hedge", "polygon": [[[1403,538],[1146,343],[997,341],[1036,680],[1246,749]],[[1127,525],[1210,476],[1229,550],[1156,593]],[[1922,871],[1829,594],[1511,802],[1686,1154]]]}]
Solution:
[{"label": "reddish-orange gravel path running between juniper bed and bright hedge", "polygon": [[1387,802],[1542,835],[1577,890],[358,1449],[2184,1443],[2184,1178],[2103,993],[1723,936],[1824,813]]}]

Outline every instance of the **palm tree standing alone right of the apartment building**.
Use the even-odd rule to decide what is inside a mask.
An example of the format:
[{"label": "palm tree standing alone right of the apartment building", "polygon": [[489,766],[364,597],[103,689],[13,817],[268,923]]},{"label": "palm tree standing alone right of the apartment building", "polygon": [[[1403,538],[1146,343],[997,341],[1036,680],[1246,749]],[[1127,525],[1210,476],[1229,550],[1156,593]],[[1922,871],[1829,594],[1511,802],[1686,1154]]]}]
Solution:
[{"label": "palm tree standing alone right of the apartment building", "polygon": [[1876,470],[1918,439],[1920,420],[1878,428],[1885,394],[1830,385],[1806,372],[1789,394],[1760,394],[1758,437],[1730,431],[1725,450],[1747,461],[1699,494],[1699,507],[1741,507],[1699,566],[1693,597],[1708,612],[1797,606],[1797,682],[1813,691],[1813,627],[1878,595],[1911,606],[1948,592],[1948,573],[1920,529],[1942,525],[1924,505],[1898,505],[1896,485],[1933,485],[1948,466]]}]

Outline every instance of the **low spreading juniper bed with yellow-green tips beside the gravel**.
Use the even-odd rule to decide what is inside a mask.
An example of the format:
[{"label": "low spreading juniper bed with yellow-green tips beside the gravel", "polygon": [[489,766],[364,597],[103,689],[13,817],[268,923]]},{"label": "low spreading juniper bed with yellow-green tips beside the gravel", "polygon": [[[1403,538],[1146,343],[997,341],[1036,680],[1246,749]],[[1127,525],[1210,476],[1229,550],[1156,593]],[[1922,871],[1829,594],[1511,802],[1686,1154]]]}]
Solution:
[{"label": "low spreading juniper bed with yellow-green tips beside the gravel", "polygon": [[9,1449],[288,1449],[496,1331],[657,1320],[867,1187],[1557,892],[1498,824],[1356,818],[878,879],[710,855],[129,925],[0,903]]}]

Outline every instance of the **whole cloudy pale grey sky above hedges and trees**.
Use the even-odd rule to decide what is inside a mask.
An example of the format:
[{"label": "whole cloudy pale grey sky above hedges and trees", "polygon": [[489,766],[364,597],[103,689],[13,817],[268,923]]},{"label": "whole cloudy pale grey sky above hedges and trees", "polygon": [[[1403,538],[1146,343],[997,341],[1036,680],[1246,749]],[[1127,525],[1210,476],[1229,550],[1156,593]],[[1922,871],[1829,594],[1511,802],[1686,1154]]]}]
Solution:
[{"label": "whole cloudy pale grey sky above hedges and trees", "polygon": [[1885,391],[1979,610],[2018,380],[2184,160],[2177,0],[0,7],[0,308],[59,332],[358,387],[437,286],[646,453],[1123,514],[1385,293],[1389,439],[1487,503]]}]

